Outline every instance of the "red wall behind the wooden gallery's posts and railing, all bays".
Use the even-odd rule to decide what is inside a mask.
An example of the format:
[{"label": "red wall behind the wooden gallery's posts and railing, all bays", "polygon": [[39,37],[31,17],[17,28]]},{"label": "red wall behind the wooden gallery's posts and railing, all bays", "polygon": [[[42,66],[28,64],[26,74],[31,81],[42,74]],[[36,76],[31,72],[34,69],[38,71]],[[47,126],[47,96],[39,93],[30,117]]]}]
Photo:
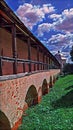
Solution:
[{"label": "red wall behind the wooden gallery's posts and railing, all bays", "polygon": [[[17,56],[20,59],[28,59],[28,46],[27,43],[16,38],[17,42]],[[0,55],[13,57],[12,56],[12,34],[7,32],[5,29],[0,29]],[[37,61],[37,49],[31,47],[31,60]],[[46,60],[46,59],[45,59]],[[43,54],[39,52],[39,61],[43,61]],[[41,70],[41,65],[39,65],[39,69]],[[31,64],[31,70],[34,71],[34,64]],[[37,65],[36,65],[37,70]],[[3,62],[2,66],[3,75],[13,74],[13,63],[11,62]],[[18,63],[17,65],[17,73],[23,72],[23,64]],[[28,72],[28,64],[25,65],[25,72]]]}]

